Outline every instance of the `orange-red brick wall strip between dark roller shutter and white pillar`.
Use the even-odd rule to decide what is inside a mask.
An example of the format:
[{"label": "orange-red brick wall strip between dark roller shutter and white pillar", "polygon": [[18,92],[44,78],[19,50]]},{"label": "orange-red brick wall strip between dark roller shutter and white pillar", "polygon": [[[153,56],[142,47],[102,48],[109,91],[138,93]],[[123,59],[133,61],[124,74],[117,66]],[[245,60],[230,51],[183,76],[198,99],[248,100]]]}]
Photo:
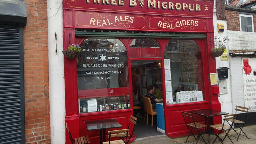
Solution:
[{"label": "orange-red brick wall strip between dark roller shutter and white pillar", "polygon": [[24,86],[26,144],[50,143],[47,0],[25,0]]}]

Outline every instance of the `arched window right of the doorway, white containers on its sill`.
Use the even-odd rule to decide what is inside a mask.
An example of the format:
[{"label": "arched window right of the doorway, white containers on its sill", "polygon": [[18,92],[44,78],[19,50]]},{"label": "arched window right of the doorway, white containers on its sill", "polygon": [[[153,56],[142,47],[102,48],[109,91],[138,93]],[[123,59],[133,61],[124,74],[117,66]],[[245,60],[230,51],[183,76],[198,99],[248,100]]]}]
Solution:
[{"label": "arched window right of the doorway, white containers on its sill", "polygon": [[[179,47],[179,53],[171,53],[170,47]],[[204,101],[202,54],[198,44],[191,39],[171,39],[164,58],[170,61],[170,71],[165,66],[165,73],[171,73],[171,78],[165,74],[166,97],[173,99],[167,104]]]}]

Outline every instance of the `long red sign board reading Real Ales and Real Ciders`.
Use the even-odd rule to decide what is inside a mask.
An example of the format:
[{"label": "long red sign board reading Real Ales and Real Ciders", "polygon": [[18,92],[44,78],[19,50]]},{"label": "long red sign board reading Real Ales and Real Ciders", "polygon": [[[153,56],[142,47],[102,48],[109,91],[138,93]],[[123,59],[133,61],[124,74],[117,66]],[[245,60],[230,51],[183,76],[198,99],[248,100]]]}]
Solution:
[{"label": "long red sign board reading Real Ales and Real Ciders", "polygon": [[206,31],[202,18],[75,11],[75,27],[150,31]]}]

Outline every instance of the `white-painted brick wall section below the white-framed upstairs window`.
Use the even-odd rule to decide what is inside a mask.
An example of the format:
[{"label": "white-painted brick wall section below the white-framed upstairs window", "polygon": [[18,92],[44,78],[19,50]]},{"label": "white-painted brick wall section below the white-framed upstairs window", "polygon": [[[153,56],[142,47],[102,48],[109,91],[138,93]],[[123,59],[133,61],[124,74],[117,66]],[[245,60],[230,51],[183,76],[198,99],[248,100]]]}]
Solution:
[{"label": "white-painted brick wall section below the white-framed upstairs window", "polygon": [[256,50],[256,33],[228,30],[229,49]]}]

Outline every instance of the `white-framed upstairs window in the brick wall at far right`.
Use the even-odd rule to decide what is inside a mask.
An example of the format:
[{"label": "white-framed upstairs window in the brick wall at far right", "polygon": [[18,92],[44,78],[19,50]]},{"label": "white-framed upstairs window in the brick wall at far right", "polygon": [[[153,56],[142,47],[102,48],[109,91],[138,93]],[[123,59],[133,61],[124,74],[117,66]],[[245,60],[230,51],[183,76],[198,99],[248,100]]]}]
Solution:
[{"label": "white-framed upstairs window in the brick wall at far right", "polygon": [[240,30],[246,32],[253,32],[253,16],[239,14],[240,17]]}]

